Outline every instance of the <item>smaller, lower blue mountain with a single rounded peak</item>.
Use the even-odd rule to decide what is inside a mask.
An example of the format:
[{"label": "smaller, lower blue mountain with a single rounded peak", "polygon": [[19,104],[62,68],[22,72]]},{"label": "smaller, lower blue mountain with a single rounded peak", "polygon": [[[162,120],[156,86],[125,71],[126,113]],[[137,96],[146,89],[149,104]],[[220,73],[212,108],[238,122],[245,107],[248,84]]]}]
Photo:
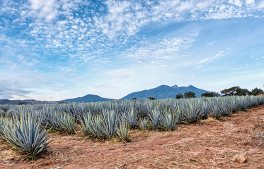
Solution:
[{"label": "smaller, lower blue mountain with a single rounded peak", "polygon": [[98,95],[87,94],[86,96],[83,96],[83,97],[77,97],[74,99],[66,99],[62,101],[64,102],[98,102],[98,101],[110,101],[110,100],[113,100],[113,99],[107,99],[107,98],[103,98]]}]

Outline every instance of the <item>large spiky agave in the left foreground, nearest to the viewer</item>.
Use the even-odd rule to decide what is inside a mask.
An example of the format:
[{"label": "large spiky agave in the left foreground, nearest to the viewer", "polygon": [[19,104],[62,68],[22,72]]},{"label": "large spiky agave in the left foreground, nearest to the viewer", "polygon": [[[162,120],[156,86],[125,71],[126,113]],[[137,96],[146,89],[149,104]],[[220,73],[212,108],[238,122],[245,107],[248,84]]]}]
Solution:
[{"label": "large spiky agave in the left foreground, nearest to the viewer", "polygon": [[36,158],[50,144],[48,131],[45,130],[46,127],[41,127],[40,120],[35,120],[30,114],[19,117],[19,120],[7,120],[1,127],[2,136],[14,149]]}]

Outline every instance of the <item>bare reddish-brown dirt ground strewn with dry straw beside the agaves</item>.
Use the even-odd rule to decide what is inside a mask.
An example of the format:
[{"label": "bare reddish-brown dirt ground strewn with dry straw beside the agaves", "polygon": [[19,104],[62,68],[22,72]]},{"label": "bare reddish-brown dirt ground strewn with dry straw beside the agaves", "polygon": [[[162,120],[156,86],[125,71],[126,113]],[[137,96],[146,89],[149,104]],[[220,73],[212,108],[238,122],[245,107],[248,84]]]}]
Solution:
[{"label": "bare reddish-brown dirt ground strewn with dry straw beside the agaves", "polygon": [[[264,106],[173,132],[134,130],[129,144],[81,134],[52,139],[45,158],[27,163],[12,161],[18,154],[0,141],[0,168],[264,168]],[[246,154],[246,163],[235,163],[236,154]]]}]

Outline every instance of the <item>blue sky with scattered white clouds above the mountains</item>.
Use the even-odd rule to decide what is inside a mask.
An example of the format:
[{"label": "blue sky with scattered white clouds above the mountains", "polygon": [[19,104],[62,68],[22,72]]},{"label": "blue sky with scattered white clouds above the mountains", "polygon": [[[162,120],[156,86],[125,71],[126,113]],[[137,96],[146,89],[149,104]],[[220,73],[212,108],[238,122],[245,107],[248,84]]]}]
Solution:
[{"label": "blue sky with scattered white clouds above the mountains", "polygon": [[263,89],[264,0],[1,0],[0,99]]}]

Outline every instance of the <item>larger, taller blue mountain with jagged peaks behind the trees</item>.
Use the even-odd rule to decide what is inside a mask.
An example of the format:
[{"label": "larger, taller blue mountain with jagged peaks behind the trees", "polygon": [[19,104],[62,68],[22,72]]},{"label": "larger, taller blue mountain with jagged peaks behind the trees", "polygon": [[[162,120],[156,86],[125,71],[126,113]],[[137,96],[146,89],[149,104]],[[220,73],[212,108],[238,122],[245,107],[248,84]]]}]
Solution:
[{"label": "larger, taller blue mountain with jagged peaks behind the trees", "polygon": [[185,92],[194,92],[196,97],[200,97],[203,93],[209,92],[207,90],[198,89],[192,85],[188,87],[178,87],[174,85],[172,87],[167,85],[161,85],[154,89],[142,90],[134,92],[122,97],[120,100],[130,100],[132,98],[147,99],[148,97],[154,97],[156,99],[175,98],[176,94],[184,94]]}]

